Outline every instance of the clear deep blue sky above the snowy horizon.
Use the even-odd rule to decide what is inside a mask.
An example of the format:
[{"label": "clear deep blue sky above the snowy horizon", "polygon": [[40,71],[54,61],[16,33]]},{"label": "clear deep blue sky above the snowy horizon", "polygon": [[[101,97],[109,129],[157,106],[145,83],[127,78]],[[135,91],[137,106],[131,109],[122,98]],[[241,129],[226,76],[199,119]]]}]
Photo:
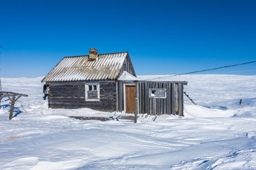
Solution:
[{"label": "clear deep blue sky above the snowy horizon", "polygon": [[[1,77],[46,76],[66,56],[129,51],[137,74],[256,60],[256,1],[0,0]],[[256,63],[204,74],[256,74]]]}]

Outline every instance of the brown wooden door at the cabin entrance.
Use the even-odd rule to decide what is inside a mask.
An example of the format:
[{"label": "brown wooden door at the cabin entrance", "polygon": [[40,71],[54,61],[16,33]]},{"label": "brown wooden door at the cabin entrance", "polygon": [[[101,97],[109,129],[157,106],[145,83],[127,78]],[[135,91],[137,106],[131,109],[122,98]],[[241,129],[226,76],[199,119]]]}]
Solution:
[{"label": "brown wooden door at the cabin entrance", "polygon": [[125,86],[126,113],[135,113],[135,86]]}]

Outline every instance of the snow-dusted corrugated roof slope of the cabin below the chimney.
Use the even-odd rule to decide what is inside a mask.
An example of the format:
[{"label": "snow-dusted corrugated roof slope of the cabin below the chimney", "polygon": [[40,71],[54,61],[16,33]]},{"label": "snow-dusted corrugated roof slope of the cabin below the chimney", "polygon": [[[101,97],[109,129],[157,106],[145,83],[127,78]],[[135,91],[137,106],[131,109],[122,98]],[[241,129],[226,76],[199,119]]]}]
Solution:
[{"label": "snow-dusted corrugated roof slope of the cabin below the chimney", "polygon": [[89,55],[64,57],[43,81],[80,81],[116,79],[128,52],[98,55],[95,61],[88,61]]}]

